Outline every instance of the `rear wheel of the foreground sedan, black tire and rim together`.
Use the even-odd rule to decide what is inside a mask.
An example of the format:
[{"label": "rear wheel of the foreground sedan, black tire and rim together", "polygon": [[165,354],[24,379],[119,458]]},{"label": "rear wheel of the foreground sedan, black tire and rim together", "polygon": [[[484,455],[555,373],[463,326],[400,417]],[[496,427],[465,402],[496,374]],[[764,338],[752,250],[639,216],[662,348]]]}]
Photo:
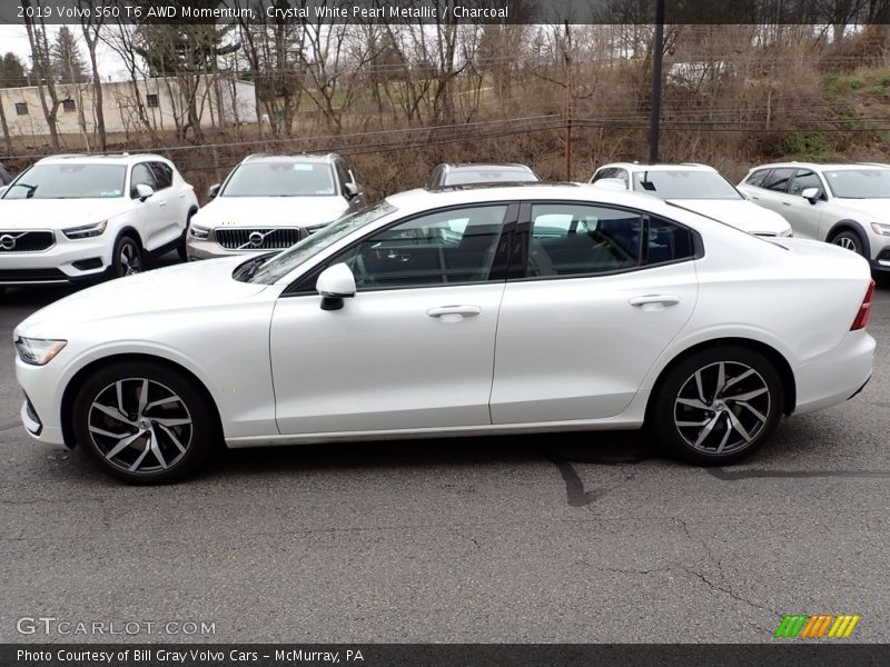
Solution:
[{"label": "rear wheel of the foreground sedan, black tire and rim together", "polygon": [[[721,366],[723,387],[718,389]],[[721,346],[695,352],[668,372],[650,421],[669,455],[723,466],[763,445],[783,405],[782,380],[769,359],[744,347]]]}]

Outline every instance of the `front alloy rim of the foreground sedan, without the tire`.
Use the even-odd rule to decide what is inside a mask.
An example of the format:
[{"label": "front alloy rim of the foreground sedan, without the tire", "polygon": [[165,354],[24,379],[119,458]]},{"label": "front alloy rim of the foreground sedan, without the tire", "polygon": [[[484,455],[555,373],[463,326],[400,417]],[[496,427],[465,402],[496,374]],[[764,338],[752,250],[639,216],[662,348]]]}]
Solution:
[{"label": "front alloy rim of the foreground sedan, without the tire", "polygon": [[176,466],[189,449],[194,424],[186,402],[147,378],[117,380],[89,408],[93,445],[112,466],[155,474]]}]

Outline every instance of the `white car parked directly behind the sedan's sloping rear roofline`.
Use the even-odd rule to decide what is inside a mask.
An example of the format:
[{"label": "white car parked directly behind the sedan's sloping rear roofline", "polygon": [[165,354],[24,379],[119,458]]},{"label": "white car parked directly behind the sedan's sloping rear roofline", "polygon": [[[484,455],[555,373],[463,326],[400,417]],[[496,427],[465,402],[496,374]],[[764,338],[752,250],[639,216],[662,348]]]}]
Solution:
[{"label": "white car parked directly behind the sedan's sloping rear roofline", "polygon": [[590,182],[654,195],[756,236],[791,236],[791,227],[781,216],[748,201],[730,181],[708,165],[613,162],[600,167]]}]

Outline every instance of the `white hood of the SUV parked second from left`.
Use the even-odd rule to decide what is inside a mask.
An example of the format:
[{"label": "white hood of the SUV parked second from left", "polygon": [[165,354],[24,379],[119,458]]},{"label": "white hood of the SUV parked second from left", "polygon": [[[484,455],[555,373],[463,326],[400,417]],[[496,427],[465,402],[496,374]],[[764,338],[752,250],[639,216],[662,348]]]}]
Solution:
[{"label": "white hood of the SUV parked second from left", "polygon": [[195,213],[202,227],[310,227],[339,218],[343,197],[217,197]]}]

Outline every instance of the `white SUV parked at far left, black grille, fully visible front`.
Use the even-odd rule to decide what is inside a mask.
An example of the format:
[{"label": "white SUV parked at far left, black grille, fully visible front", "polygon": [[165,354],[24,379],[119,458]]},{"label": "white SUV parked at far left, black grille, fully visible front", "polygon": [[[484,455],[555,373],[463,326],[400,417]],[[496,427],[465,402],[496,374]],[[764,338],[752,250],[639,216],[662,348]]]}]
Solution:
[{"label": "white SUV parked at far left, black grille, fully visible front", "polygon": [[0,291],[138,273],[147,252],[185,257],[191,186],[155,155],[53,156],[0,197]]}]

